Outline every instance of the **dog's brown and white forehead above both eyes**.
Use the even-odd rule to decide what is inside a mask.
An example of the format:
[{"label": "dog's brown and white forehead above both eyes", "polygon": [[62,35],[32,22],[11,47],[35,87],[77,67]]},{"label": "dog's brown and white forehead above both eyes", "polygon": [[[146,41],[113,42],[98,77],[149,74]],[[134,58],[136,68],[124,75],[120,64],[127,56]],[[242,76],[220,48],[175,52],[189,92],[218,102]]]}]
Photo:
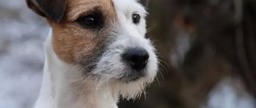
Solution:
[{"label": "dog's brown and white forehead above both eyes", "polygon": [[116,12],[143,12],[144,7],[137,0],[68,0],[67,19],[74,21],[79,16],[100,9],[108,17],[116,17]]}]

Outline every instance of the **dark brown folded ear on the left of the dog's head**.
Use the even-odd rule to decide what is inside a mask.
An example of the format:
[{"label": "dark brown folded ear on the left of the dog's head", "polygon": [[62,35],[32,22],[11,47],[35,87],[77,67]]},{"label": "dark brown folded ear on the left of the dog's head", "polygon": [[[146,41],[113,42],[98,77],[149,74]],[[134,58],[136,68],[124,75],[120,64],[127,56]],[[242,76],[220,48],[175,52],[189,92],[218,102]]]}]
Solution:
[{"label": "dark brown folded ear on the left of the dog's head", "polygon": [[38,15],[58,23],[64,17],[67,0],[26,0],[26,4]]}]

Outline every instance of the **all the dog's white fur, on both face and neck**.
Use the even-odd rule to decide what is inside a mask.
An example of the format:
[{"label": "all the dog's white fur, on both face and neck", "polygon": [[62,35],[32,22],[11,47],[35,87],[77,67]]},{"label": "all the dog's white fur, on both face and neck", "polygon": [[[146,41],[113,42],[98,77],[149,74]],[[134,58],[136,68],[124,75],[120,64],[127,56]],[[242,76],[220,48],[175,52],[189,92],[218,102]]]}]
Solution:
[{"label": "all the dog's white fur, on both face and neck", "polygon": [[[142,5],[135,0],[113,0],[118,22],[115,40],[107,47],[92,73],[100,79],[92,78],[81,72],[79,66],[62,62],[51,45],[51,32],[45,43],[46,61],[40,97],[35,108],[117,108],[119,95],[123,98],[136,98],[144,92],[145,86],[154,80],[157,74],[157,56],[149,39],[145,39],[147,15]],[[132,15],[141,15],[140,24],[133,24]],[[146,67],[146,76],[123,83],[118,79],[127,70],[121,62],[121,54],[126,49],[143,48],[150,55]]]}]

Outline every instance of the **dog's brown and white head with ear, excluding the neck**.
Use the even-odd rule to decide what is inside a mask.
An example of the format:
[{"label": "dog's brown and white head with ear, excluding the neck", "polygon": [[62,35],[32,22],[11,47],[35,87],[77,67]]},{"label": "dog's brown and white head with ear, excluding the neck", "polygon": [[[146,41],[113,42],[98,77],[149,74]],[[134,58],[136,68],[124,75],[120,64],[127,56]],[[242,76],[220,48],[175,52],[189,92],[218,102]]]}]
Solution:
[{"label": "dog's brown and white head with ear, excluding the neck", "polygon": [[151,83],[157,56],[145,38],[147,0],[26,0],[53,29],[52,46],[81,73],[132,97]]}]

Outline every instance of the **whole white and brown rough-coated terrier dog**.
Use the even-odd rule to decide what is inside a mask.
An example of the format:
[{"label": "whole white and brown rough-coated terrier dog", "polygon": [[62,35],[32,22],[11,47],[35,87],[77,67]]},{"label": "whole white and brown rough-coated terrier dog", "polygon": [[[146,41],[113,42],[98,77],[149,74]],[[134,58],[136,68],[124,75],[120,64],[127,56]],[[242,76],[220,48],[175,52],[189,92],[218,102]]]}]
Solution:
[{"label": "whole white and brown rough-coated terrier dog", "polygon": [[35,108],[117,108],[157,75],[147,0],[26,0],[50,25]]}]

